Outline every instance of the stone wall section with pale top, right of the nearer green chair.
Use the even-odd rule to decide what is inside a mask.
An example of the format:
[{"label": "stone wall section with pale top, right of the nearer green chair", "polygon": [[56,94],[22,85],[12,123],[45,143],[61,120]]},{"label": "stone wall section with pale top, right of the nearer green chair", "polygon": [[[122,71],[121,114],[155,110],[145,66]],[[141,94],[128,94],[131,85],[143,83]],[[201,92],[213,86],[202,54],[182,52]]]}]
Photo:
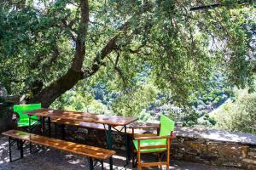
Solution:
[{"label": "stone wall section with pale top, right of the nearer green chair", "polygon": [[249,133],[182,127],[176,130],[172,157],[177,160],[256,169],[256,136]]}]

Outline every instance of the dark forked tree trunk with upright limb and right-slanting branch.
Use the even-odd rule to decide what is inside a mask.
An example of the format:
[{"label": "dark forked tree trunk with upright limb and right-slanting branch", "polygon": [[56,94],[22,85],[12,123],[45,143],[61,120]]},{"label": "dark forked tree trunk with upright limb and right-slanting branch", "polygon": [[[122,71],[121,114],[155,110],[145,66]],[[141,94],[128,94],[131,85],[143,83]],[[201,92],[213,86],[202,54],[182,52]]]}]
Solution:
[{"label": "dark forked tree trunk with upright limb and right-slanting branch", "polygon": [[102,48],[101,52],[93,59],[92,65],[82,71],[82,66],[85,56],[85,36],[88,29],[89,22],[89,5],[88,1],[81,0],[81,20],[79,32],[76,40],[76,52],[73,57],[73,63],[71,68],[65,75],[57,79],[55,82],[49,84],[39,94],[35,95],[33,99],[30,99],[29,103],[41,103],[42,107],[48,108],[55,99],[59,98],[61,94],[64,94],[67,90],[73,88],[79,80],[88,78],[94,75],[102,65],[104,65],[104,59],[114,49],[116,49],[116,42],[119,39],[120,31],[125,31],[128,27],[128,22],[119,27],[119,32],[109,39],[108,43]]}]

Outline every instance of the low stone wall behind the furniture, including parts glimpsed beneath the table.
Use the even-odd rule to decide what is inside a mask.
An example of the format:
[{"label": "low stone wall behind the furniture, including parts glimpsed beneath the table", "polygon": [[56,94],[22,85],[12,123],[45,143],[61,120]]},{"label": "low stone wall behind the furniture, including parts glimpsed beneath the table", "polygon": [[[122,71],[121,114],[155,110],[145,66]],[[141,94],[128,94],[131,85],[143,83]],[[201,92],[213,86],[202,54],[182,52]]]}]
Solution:
[{"label": "low stone wall behind the furniture, including parts glimpsed beneath the table", "polygon": [[[256,136],[253,134],[177,127],[175,135],[171,159],[256,170]],[[67,137],[107,147],[103,130],[68,127]],[[113,139],[114,149],[125,149],[125,139],[119,133],[113,133]]]}]

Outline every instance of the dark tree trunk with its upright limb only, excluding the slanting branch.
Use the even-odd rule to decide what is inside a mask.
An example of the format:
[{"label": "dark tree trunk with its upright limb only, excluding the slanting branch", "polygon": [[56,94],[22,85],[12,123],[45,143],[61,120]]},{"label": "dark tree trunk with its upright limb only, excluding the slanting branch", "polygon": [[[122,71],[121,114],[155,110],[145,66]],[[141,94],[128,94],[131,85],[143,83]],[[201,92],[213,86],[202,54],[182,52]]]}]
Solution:
[{"label": "dark tree trunk with its upright limb only, excluding the slanting branch", "polygon": [[52,82],[48,87],[44,88],[39,94],[35,95],[29,103],[41,103],[42,107],[49,107],[55,99],[64,94],[67,90],[84,78],[82,66],[85,56],[85,38],[88,31],[89,23],[89,2],[88,0],[80,0],[81,19],[79,24],[78,36],[76,39],[76,50],[73,57],[71,68],[62,77]]}]

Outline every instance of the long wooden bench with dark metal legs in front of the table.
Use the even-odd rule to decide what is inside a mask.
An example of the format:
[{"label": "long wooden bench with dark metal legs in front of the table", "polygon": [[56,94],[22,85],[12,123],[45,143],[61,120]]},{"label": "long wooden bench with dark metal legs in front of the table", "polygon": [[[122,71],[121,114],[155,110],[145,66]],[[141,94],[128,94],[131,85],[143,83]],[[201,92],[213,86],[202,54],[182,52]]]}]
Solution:
[{"label": "long wooden bench with dark metal legs in front of the table", "polygon": [[[26,133],[19,130],[9,130],[7,132],[2,133],[5,136],[9,137],[9,158],[10,161],[13,161],[11,158],[11,141],[18,140],[20,145],[20,158],[23,157],[23,144],[24,142],[30,142],[30,151],[32,152],[31,143],[48,146],[57,150],[65,150],[71,152],[73,154],[78,154],[81,156],[89,157],[90,169],[93,169],[93,160],[101,161],[103,168],[103,160],[111,158],[115,151],[113,150],[105,150],[102,148],[89,146],[85,144],[76,144],[73,142],[64,141],[61,139],[52,139],[44,136],[40,136],[37,134]],[[19,158],[19,159],[20,159]]]}]

